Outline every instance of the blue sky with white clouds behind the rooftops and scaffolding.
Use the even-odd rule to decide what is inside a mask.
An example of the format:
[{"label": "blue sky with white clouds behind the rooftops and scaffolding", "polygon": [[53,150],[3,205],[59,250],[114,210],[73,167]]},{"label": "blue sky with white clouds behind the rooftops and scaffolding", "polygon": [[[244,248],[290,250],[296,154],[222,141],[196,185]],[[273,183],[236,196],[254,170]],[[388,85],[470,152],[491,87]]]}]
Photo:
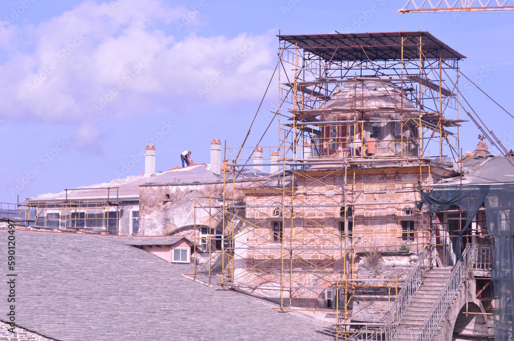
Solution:
[{"label": "blue sky with white clouds behind the rooftops and scaffolding", "polygon": [[[429,31],[467,57],[464,74],[514,111],[514,11],[401,15],[403,4],[3,0],[0,202],[142,174],[149,143],[157,171],[178,166],[185,149],[209,163],[214,138],[240,146],[277,64],[279,32]],[[277,87],[274,79],[247,146],[266,129]],[[514,119],[469,82],[460,88],[514,149]],[[479,133],[463,124],[464,151]],[[278,145],[277,126],[261,145]]]}]

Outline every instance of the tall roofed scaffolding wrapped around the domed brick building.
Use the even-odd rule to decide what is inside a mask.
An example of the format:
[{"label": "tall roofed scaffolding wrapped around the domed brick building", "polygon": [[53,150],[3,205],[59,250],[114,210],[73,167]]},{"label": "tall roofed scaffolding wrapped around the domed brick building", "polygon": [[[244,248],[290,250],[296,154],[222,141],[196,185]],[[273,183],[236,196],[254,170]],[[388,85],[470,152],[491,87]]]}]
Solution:
[{"label": "tall roofed scaffolding wrapped around the domed brick building", "polygon": [[[411,255],[421,274],[435,264],[435,231],[416,203],[461,160],[463,58],[428,32],[279,35],[279,144],[226,148],[237,157],[222,193],[195,197],[208,217],[195,217],[208,251],[195,277],[282,311],[332,314],[341,339],[394,324],[407,276],[376,263]],[[237,184],[251,156],[271,172]],[[375,278],[359,275],[370,268]],[[364,310],[374,323],[359,320]]]}]

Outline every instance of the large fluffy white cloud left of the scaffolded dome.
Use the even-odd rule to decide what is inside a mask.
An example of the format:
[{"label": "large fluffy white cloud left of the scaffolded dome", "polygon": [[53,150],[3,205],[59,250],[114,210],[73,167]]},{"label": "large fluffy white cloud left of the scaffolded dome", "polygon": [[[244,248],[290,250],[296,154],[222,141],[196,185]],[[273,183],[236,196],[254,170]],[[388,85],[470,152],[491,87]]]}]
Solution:
[{"label": "large fluffy white cloud left of the scaffolded dome", "polygon": [[[0,65],[0,118],[91,122],[177,101],[262,96],[274,67],[273,34],[177,39],[159,27],[179,33],[190,10],[159,0],[117,4],[86,1],[36,27],[0,25],[9,56]],[[31,51],[18,45],[22,37]]]}]

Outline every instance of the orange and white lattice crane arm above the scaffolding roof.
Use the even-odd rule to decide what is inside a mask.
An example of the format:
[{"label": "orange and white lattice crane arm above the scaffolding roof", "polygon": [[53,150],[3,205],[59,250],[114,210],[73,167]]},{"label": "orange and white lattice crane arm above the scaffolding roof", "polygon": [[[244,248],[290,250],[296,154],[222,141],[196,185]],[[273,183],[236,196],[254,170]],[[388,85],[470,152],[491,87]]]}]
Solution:
[{"label": "orange and white lattice crane arm above the scaffolding roof", "polygon": [[471,12],[513,10],[514,0],[409,0],[401,9],[403,13]]}]

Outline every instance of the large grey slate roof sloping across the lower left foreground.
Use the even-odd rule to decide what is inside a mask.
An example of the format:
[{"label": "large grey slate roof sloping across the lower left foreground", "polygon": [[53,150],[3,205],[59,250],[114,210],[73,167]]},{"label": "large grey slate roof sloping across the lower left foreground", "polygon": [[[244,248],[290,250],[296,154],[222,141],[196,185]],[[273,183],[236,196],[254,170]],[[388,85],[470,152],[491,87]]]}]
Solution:
[{"label": "large grey slate roof sloping across the lower left foreground", "polygon": [[[7,253],[7,231],[2,253]],[[206,287],[129,238],[15,232],[16,323],[61,341],[332,340],[331,326]],[[6,277],[7,264],[0,267]],[[7,297],[8,286],[0,285]],[[7,304],[0,305],[5,319]]]}]

